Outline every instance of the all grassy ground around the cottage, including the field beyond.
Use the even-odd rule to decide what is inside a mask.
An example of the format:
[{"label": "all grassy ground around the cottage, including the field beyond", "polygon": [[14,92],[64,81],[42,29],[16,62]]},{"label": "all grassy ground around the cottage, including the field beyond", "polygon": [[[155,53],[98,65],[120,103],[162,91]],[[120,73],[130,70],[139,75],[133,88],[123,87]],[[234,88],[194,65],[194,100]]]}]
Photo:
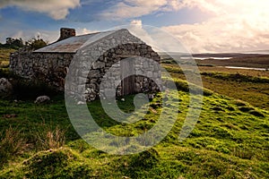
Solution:
[{"label": "all grassy ground around the cottage, including the field beyond", "polygon": [[[202,113],[195,129],[180,142],[178,134],[190,105],[188,86],[180,69],[173,64],[165,67],[178,88],[169,91],[180,101],[177,121],[158,145],[128,156],[109,155],[82,141],[69,121],[63,94],[39,90],[36,84],[29,87],[27,81],[17,79],[14,84],[24,93],[0,99],[0,178],[269,178],[266,78],[240,73],[238,81],[230,72],[203,73]],[[0,75],[17,78],[6,71]],[[52,100],[34,104],[34,97],[41,93]],[[134,96],[127,96],[117,105],[131,113],[133,100]],[[157,95],[146,115],[136,111],[134,117],[142,120],[133,124],[111,119],[100,100],[88,108],[106,132],[138,136],[158,122],[161,101],[161,94]],[[172,116],[165,109],[163,113],[167,120]]]}]

